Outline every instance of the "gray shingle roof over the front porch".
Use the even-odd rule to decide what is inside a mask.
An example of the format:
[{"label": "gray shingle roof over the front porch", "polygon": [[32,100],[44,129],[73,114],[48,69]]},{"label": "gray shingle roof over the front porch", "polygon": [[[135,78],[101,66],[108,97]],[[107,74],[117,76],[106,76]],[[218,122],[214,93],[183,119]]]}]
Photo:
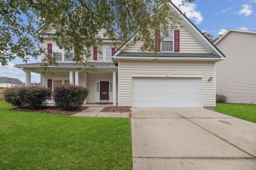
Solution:
[{"label": "gray shingle roof over the front porch", "polygon": [[[99,67],[113,67],[116,66],[114,65],[114,63],[110,63],[110,62],[87,62],[89,65],[96,65],[98,68]],[[15,66],[18,67],[23,67],[23,66],[31,66],[31,67],[40,67],[42,63],[28,63],[28,64],[16,64]],[[58,63],[59,66],[63,66],[63,67],[76,67],[75,65],[73,65],[73,63]],[[77,65],[77,67],[80,67],[82,65]],[[49,66],[51,67],[51,66]]]}]

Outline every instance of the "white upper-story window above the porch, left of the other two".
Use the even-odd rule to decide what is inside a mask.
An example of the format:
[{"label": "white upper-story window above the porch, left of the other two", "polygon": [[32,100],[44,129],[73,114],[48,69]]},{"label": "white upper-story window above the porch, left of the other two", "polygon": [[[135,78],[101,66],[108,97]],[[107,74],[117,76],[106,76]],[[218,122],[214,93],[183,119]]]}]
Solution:
[{"label": "white upper-story window above the porch, left of the other two", "polygon": [[52,56],[56,58],[56,61],[73,61],[74,49],[69,53],[66,53],[63,49],[60,49],[56,43],[53,43],[52,54]]}]

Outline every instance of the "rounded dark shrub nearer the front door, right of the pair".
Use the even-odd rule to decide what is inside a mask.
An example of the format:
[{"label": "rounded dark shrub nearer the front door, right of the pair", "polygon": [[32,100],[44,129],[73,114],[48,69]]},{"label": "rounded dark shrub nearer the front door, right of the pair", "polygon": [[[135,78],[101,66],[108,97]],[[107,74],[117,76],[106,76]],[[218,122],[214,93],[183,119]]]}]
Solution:
[{"label": "rounded dark shrub nearer the front door, right of the pair", "polygon": [[89,91],[85,87],[66,84],[54,87],[52,97],[57,107],[72,111],[82,107],[88,94]]}]

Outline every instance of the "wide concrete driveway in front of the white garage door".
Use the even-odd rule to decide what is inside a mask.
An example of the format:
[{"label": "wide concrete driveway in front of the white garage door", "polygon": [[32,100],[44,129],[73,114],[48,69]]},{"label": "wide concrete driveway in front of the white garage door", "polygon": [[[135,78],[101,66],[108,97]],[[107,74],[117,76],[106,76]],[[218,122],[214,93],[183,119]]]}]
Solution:
[{"label": "wide concrete driveway in front of the white garage door", "polygon": [[132,109],[134,170],[255,170],[256,124],[207,109]]}]

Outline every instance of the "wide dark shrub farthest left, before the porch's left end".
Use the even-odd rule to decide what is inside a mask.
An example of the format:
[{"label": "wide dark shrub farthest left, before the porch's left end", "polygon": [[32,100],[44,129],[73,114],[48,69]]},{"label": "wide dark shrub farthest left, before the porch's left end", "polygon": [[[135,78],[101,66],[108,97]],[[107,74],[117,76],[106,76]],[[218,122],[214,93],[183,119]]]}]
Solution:
[{"label": "wide dark shrub farthest left, before the porch's left end", "polygon": [[13,106],[38,110],[46,107],[49,95],[51,90],[46,87],[11,87],[4,91],[4,100]]}]

